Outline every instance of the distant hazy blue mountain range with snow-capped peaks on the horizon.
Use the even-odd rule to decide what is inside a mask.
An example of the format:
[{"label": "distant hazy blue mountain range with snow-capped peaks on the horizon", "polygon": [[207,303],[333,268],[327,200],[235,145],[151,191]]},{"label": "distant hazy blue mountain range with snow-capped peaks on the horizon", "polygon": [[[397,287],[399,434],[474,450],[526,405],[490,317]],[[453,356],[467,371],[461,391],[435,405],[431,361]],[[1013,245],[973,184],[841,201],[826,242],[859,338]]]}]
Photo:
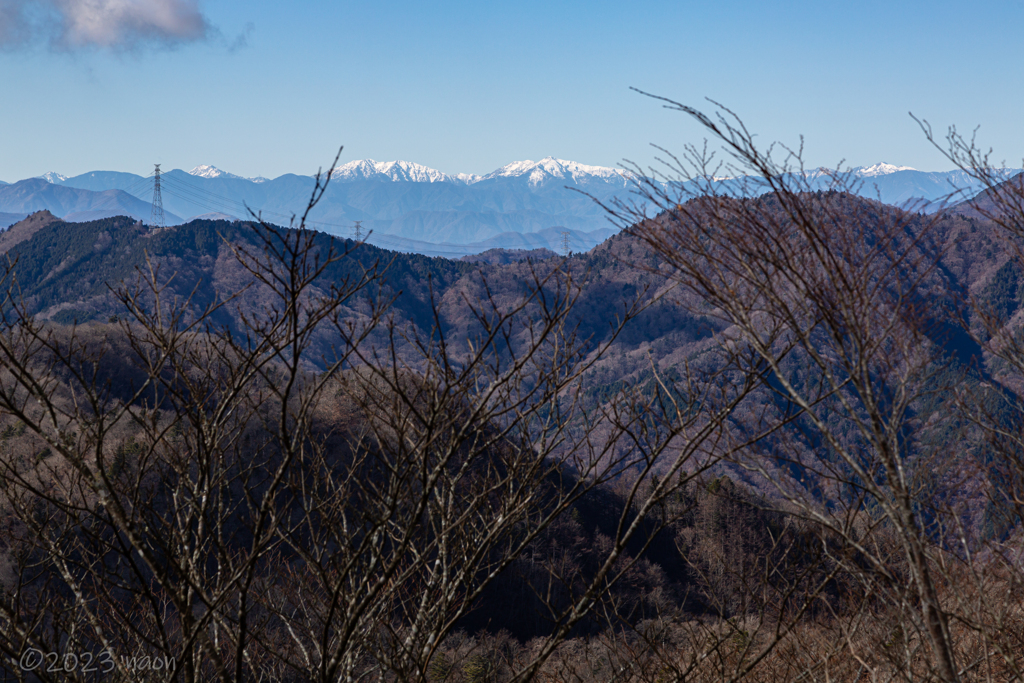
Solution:
[{"label": "distant hazy blue mountain range with snow-capped peaks on the horizon", "polygon": [[[923,172],[881,163],[846,173],[859,183],[858,194],[926,211],[981,189],[962,171]],[[836,173],[814,169],[806,176],[812,188],[826,188]],[[615,231],[598,202],[631,199],[631,178],[622,169],[551,157],[513,162],[485,175],[447,174],[406,161],[359,160],[334,169],[311,222],[326,232],[352,237],[358,221],[361,234],[371,233],[372,244],[438,256],[494,248],[561,251],[564,232],[570,249],[586,250]],[[305,207],[313,186],[310,176],[245,178],[210,165],[168,171],[162,180],[167,224],[198,217],[243,219],[250,210],[287,224]],[[715,180],[716,191],[722,194],[761,191],[751,178]],[[956,190],[959,194],[950,198]],[[127,215],[150,222],[152,200],[152,176],[93,171],[68,177],[51,172],[0,184],[0,226],[44,209],[68,221]]]}]

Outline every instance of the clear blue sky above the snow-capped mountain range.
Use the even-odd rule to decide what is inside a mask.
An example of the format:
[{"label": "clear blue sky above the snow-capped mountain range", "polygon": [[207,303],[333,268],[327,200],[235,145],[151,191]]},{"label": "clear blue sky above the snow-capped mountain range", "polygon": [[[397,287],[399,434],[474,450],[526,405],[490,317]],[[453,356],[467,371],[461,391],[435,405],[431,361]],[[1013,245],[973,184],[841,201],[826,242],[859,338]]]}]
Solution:
[{"label": "clear blue sky above the snow-capped mountain range", "polygon": [[765,141],[803,134],[812,166],[948,168],[908,111],[980,125],[997,161],[1024,156],[1022,0],[13,5],[20,18],[0,13],[7,181],[157,162],[274,177],[342,144],[342,161],[449,173],[549,155],[614,166],[700,142],[631,86],[712,97]]}]

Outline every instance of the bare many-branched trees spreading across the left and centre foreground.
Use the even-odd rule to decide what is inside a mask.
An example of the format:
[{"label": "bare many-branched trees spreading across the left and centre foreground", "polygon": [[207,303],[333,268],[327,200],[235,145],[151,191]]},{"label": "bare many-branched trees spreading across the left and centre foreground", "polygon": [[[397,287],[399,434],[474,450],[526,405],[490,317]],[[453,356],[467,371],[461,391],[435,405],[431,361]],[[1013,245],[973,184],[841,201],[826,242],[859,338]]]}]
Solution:
[{"label": "bare many-branched trees spreading across the left and centre foreground", "polygon": [[206,306],[175,298],[154,256],[116,288],[116,329],[63,328],[33,318],[7,268],[11,676],[92,676],[27,672],[34,648],[105,657],[122,680],[142,657],[163,680],[427,680],[503,571],[637,472],[597,570],[549,574],[574,588],[516,663],[531,678],[637,562],[627,548],[657,532],[651,513],[720,456],[751,377],[587,398],[584,374],[645,304],[601,344],[579,338],[567,261],[532,268],[511,301],[480,280],[458,340],[436,303],[430,329],[403,327],[386,316],[385,268],[328,279],[348,254],[305,229],[328,180],[294,229],[256,220],[227,245],[251,282]]}]

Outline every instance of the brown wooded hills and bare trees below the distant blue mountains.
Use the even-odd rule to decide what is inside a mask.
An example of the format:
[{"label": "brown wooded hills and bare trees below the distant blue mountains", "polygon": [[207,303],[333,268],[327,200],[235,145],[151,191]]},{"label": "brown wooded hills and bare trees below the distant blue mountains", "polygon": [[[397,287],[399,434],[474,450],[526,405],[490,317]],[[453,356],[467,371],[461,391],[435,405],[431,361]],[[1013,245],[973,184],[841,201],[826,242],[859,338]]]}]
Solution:
[{"label": "brown wooded hills and bare trees below the distant blue mountains", "polygon": [[1022,680],[1020,177],[703,122],[759,193],[638,174],[586,254],[0,236],[5,680]]}]

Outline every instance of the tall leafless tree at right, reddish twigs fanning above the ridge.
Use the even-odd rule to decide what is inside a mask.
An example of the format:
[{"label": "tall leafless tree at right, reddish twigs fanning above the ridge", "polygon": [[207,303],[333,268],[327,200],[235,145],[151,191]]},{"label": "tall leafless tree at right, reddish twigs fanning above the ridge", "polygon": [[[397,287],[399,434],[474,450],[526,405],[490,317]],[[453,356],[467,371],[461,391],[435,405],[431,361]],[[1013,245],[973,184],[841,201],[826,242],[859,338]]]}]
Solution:
[{"label": "tall leafless tree at right, reddish twigs fanning above the ridge", "polygon": [[[809,174],[799,151],[782,148],[776,161],[778,148],[759,148],[731,112],[709,118],[665,101],[703,125],[731,160],[716,165],[688,147],[668,161],[681,180],[638,181],[660,215],[616,210],[675,268],[670,276],[729,326],[728,343],[769,369],[771,408],[750,426],[770,436],[737,444],[732,458],[840,542],[828,553],[861,583],[864,608],[898,612],[908,648],[900,675],[958,680],[942,599],[949,554],[939,528],[950,520],[939,510],[966,474],[935,437],[943,422],[930,408],[954,381],[939,319],[949,297],[935,270],[935,220],[855,199],[848,174],[826,174],[822,191],[812,183],[820,171]],[[721,196],[721,175],[746,176],[745,191]],[[694,186],[691,201],[676,191]],[[854,638],[862,621],[838,624],[846,654],[867,657]]]}]

